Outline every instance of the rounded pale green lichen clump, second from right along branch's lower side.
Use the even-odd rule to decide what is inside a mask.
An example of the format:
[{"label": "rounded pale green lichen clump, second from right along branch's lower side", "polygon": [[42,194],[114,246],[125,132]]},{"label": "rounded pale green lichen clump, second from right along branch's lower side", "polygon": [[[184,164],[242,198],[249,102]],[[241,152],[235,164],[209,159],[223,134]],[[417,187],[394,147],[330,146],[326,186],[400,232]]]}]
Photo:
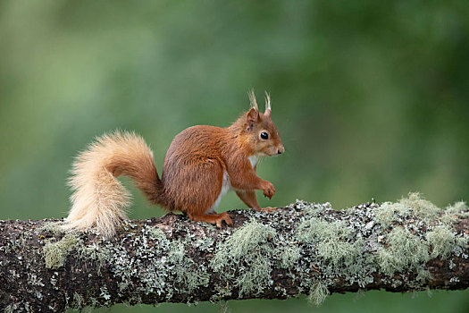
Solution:
[{"label": "rounded pale green lichen clump, second from right along branch's lower side", "polygon": [[394,275],[405,268],[421,269],[430,259],[428,243],[410,233],[404,227],[394,228],[386,238],[388,247],[377,251],[377,261],[381,272]]}]

